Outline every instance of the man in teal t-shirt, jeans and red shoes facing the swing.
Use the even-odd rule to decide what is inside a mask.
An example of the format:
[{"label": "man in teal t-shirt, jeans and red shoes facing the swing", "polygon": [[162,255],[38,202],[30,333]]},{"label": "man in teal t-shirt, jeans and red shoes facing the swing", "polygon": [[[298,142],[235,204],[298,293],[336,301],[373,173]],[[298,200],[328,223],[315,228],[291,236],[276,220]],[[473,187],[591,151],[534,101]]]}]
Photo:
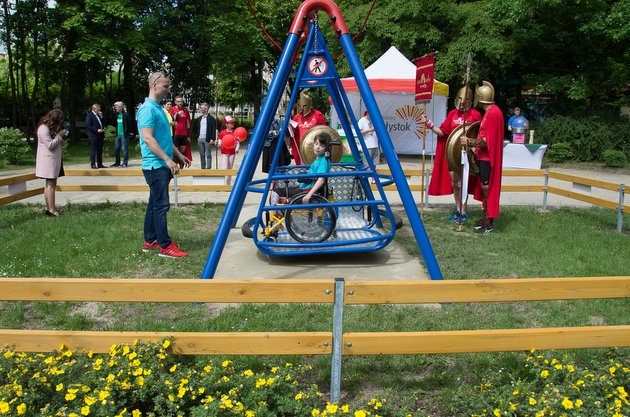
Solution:
[{"label": "man in teal t-shirt, jeans and red shoes facing the swing", "polygon": [[149,185],[149,202],[144,217],[143,251],[159,250],[166,258],[188,256],[179,249],[168,234],[166,213],[171,207],[168,186],[173,175],[179,173],[179,164],[173,155],[189,167],[190,160],[173,148],[171,126],[160,103],[166,98],[171,82],[162,72],[149,76],[149,97],[138,109],[138,132],[142,150],[142,173]]}]

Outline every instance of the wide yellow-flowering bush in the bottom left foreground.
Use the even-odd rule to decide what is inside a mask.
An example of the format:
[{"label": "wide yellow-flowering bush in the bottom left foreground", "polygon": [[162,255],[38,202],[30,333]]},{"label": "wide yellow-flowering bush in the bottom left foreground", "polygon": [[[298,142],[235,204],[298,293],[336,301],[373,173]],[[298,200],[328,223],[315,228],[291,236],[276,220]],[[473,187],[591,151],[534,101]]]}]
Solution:
[{"label": "wide yellow-flowering bush in the bottom left foreground", "polygon": [[307,379],[310,366],[173,356],[170,340],[113,345],[109,354],[0,351],[0,415],[409,416],[384,399],[330,404]]}]

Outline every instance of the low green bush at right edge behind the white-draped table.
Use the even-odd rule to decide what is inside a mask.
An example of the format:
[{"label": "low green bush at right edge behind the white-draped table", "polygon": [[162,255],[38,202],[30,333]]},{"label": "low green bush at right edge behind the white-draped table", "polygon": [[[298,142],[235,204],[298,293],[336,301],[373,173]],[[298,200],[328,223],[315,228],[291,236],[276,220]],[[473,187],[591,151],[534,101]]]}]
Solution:
[{"label": "low green bush at right edge behind the white-draped table", "polygon": [[577,161],[596,161],[603,149],[616,149],[630,155],[628,131],[628,118],[552,116],[536,127],[536,141],[549,144],[550,148],[569,143]]}]

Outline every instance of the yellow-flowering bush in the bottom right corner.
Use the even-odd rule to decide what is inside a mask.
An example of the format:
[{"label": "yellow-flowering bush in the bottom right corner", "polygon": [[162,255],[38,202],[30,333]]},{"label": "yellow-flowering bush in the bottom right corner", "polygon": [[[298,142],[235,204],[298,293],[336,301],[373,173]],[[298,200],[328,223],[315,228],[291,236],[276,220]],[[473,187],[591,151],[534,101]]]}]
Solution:
[{"label": "yellow-flowering bush in the bottom right corner", "polygon": [[623,358],[611,352],[601,369],[588,369],[532,351],[522,365],[523,378],[506,381],[511,377],[498,373],[465,389],[455,402],[479,417],[622,417],[627,415],[630,377]]}]

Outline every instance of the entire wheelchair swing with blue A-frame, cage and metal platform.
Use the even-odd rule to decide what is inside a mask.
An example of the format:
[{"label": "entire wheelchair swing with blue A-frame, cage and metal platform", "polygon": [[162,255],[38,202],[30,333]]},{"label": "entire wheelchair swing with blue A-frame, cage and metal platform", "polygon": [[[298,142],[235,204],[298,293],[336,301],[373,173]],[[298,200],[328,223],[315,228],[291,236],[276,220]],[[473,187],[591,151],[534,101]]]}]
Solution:
[{"label": "entire wheelchair swing with blue A-frame, cage and metal platform", "polygon": [[[319,28],[318,12],[321,10],[330,18],[339,38],[371,116],[391,171],[390,176],[378,174],[371,158],[364,160],[362,157],[362,154],[369,155],[369,151]],[[267,178],[253,180],[253,176],[289,77],[294,71],[293,59],[299,56],[300,45],[304,40],[306,45],[300,65],[295,70],[295,82],[286,108],[294,108],[301,89],[325,88],[348,139],[353,162],[332,163],[329,172],[316,174],[319,178],[326,178],[326,187],[332,189],[332,193],[324,192],[322,196],[314,194],[308,204],[302,202],[304,194],[297,194],[286,204],[287,202],[279,203],[277,199],[270,198],[273,187],[283,182],[287,187],[289,184],[297,187],[300,179],[311,178],[313,174],[306,173],[308,166],[279,166],[284,140],[277,141]],[[290,115],[287,114],[282,121],[279,138],[287,135],[289,122]],[[327,155],[329,151],[330,149]],[[374,184],[376,192],[373,192],[371,184]],[[401,221],[392,212],[385,194],[384,187],[390,184],[396,185],[429,275],[432,279],[442,279],[411,190],[341,10],[332,0],[305,0],[299,6],[289,31],[201,277],[214,276],[229,230],[235,226],[248,192],[261,193],[262,198],[257,216],[246,222],[247,227],[243,227],[243,234],[251,237],[261,252],[269,256],[322,255],[378,251],[394,239]]]}]

